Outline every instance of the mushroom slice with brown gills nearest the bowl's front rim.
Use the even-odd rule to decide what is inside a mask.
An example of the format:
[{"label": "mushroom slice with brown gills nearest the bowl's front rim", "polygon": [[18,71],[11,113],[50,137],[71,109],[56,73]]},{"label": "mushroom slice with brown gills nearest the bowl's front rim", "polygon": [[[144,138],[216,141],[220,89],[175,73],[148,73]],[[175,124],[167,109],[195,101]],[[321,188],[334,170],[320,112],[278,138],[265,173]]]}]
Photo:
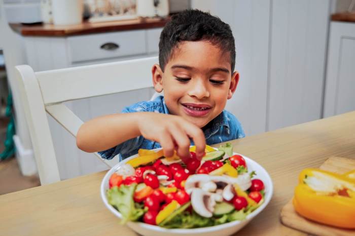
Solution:
[{"label": "mushroom slice with brown gills nearest the bowl's front rim", "polygon": [[194,188],[191,193],[191,204],[197,214],[209,218],[212,217],[216,201],[202,189]]}]

